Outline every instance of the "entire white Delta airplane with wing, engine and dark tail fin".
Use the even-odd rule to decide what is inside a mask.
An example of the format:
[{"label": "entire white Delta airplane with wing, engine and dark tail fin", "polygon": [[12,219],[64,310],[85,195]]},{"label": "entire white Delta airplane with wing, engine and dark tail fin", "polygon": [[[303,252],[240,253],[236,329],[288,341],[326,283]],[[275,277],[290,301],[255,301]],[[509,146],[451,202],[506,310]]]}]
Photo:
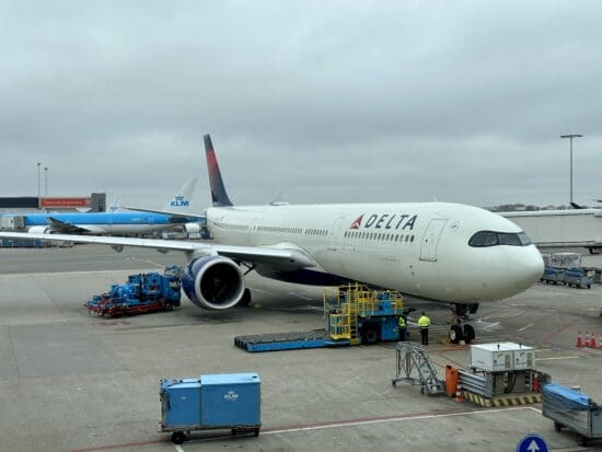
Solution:
[{"label": "entire white Delta airplane with wing, engine and dark tail fin", "polygon": [[186,253],[183,289],[200,308],[251,301],[244,275],[289,282],[360,281],[449,303],[450,339],[471,341],[470,314],[479,303],[524,291],[543,274],[542,256],[505,218],[460,204],[234,206],[205,136],[213,207],[206,211],[215,243],[126,237],[0,233],[0,236],[142,246]]}]

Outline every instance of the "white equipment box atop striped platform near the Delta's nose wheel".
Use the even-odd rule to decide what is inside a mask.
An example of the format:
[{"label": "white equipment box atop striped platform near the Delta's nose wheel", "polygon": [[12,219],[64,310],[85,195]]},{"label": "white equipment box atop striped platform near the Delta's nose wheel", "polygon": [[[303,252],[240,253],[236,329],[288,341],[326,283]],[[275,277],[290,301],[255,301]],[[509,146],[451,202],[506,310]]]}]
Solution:
[{"label": "white equipment box atop striped platform near the Delta's nose wheel", "polygon": [[514,343],[472,345],[468,367],[485,372],[509,372],[533,369],[535,350]]}]

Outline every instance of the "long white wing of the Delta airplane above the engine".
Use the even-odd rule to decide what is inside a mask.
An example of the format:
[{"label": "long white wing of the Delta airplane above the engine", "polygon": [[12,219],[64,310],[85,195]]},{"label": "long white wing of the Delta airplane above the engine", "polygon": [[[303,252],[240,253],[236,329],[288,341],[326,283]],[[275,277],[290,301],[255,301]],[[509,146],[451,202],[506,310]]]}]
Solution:
[{"label": "long white wing of the Delta airplane above the engine", "polygon": [[153,248],[161,252],[180,251],[187,254],[198,254],[205,256],[225,256],[234,260],[247,264],[267,265],[281,269],[298,269],[315,267],[315,262],[302,250],[270,248],[259,246],[236,246],[221,245],[218,243],[199,243],[177,240],[158,240],[158,239],[130,239],[100,235],[72,235],[72,234],[36,234],[25,232],[0,232],[0,237],[7,239],[30,239],[45,240],[54,242],[73,242],[73,243],[96,243],[112,246],[137,246],[142,248]]}]

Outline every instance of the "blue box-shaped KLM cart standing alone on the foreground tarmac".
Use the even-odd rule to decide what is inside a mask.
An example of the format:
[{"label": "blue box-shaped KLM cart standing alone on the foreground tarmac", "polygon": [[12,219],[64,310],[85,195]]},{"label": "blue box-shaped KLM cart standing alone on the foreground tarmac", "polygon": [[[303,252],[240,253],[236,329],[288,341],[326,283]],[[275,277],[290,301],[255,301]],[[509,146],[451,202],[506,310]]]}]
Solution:
[{"label": "blue box-shaped KLM cart standing alone on the foreground tarmac", "polygon": [[257,373],[200,375],[161,380],[159,431],[182,444],[196,430],[230,429],[259,434],[261,380]]}]

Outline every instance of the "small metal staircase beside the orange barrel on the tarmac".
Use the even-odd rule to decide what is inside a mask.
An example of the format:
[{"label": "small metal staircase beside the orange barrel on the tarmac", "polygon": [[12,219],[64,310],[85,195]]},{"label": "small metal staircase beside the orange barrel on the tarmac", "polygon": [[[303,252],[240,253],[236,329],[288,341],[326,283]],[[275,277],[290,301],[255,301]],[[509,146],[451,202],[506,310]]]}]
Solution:
[{"label": "small metal staircase beside the orange barrel on the tarmac", "polygon": [[[393,386],[397,382],[407,381],[412,384],[420,385],[420,392],[429,395],[444,394],[445,385],[443,380],[437,378],[437,370],[430,362],[427,351],[414,343],[398,343],[396,346],[396,373],[391,380]],[[413,376],[416,370],[417,376]]]}]

